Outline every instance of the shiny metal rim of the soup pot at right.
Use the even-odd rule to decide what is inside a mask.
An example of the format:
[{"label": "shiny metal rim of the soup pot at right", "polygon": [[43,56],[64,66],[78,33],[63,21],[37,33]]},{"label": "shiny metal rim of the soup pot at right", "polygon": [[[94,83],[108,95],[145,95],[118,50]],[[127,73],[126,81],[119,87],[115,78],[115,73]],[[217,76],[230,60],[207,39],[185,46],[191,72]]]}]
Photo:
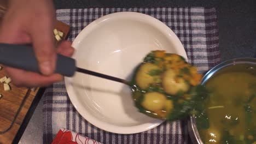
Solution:
[{"label": "shiny metal rim of the soup pot at right", "polygon": [[[207,80],[209,80],[214,74],[217,73],[217,71],[229,67],[230,65],[237,65],[237,64],[253,64],[256,65],[256,58],[251,57],[240,57],[240,58],[232,58],[228,59],[224,62],[220,62],[213,68],[207,71],[207,73],[202,77],[201,84],[204,85]],[[191,137],[191,140],[195,144],[203,144],[201,137],[199,135],[199,131],[196,127],[196,119],[193,116],[190,116],[188,118],[188,131],[189,135]]]}]

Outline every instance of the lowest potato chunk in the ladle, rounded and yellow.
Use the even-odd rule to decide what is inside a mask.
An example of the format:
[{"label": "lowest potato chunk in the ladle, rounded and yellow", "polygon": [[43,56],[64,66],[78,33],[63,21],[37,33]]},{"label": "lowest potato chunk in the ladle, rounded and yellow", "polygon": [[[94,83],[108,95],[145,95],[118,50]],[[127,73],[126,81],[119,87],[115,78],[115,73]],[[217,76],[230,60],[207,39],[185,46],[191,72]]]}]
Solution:
[{"label": "lowest potato chunk in the ladle, rounded and yellow", "polygon": [[166,104],[166,97],[159,92],[149,92],[144,95],[141,105],[149,111],[162,110]]}]

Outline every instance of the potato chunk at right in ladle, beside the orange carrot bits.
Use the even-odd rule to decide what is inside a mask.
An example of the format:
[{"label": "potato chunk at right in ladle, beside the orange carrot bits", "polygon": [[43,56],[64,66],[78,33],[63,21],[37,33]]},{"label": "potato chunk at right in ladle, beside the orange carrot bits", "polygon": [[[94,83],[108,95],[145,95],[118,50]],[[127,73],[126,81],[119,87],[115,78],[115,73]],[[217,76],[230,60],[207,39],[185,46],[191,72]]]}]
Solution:
[{"label": "potato chunk at right in ladle, beside the orange carrot bits", "polygon": [[185,83],[184,79],[176,77],[176,74],[172,69],[165,71],[162,86],[166,93],[172,95],[177,94],[179,91],[187,92],[189,89],[189,85]]}]

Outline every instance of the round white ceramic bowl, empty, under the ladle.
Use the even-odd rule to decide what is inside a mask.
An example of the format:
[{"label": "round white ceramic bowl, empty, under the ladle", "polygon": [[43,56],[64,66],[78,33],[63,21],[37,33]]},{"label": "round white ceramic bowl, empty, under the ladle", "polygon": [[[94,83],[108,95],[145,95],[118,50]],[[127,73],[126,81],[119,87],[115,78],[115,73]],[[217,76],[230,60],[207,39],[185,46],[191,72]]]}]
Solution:
[{"label": "round white ceramic bowl, empty, under the ladle", "polygon": [[[95,20],[79,33],[72,46],[78,67],[126,80],[152,50],[178,53],[187,59],[181,41],[170,28],[154,17],[133,12]],[[65,83],[75,109],[98,128],[133,134],[162,123],[138,112],[130,88],[124,84],[81,73],[65,77]]]}]

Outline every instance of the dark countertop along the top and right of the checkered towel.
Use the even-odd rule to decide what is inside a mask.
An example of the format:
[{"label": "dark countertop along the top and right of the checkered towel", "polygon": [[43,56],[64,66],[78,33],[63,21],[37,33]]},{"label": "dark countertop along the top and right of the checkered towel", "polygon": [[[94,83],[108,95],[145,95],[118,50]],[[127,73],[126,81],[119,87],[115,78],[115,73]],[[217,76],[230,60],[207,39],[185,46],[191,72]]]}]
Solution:
[{"label": "dark countertop along the top and right of the checkered towel", "polygon": [[134,7],[214,7],[221,60],[256,55],[256,1],[222,0],[54,0],[56,9]]}]

